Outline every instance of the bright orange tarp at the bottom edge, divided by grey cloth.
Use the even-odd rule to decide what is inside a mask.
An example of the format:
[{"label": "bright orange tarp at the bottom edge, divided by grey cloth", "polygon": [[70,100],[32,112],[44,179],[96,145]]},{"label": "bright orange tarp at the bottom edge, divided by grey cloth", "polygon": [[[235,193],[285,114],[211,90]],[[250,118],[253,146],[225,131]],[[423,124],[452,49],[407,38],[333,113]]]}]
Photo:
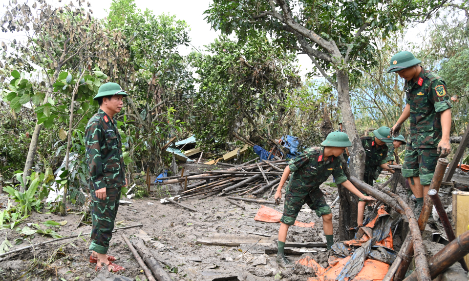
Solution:
[{"label": "bright orange tarp at the bottom edge, divided by grey cloth", "polygon": [[[330,259],[329,259],[330,260]],[[345,266],[345,263],[350,260],[350,257],[343,259],[337,258],[333,260],[335,264],[331,267],[323,268],[316,261],[310,257],[305,257],[302,260],[297,261],[298,263],[311,267],[316,272],[317,277],[308,278],[308,281],[332,281],[337,280],[337,277]],[[363,268],[357,276],[353,279],[354,281],[382,281],[389,269],[389,264],[381,261],[366,260]]]}]

